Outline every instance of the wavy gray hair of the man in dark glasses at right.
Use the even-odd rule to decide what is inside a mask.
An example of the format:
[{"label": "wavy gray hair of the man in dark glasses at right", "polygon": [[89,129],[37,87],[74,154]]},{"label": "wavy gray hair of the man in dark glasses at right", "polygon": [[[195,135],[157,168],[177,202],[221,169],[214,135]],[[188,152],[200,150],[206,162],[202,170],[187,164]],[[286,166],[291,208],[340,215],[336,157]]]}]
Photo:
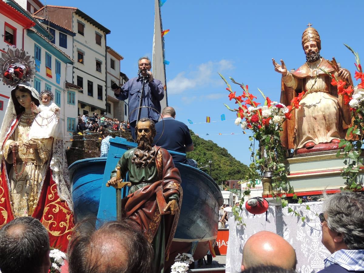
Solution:
[{"label": "wavy gray hair of the man in dark glasses at right", "polygon": [[364,194],[341,191],[325,195],[323,210],[329,229],[343,234],[348,249],[364,249]]}]

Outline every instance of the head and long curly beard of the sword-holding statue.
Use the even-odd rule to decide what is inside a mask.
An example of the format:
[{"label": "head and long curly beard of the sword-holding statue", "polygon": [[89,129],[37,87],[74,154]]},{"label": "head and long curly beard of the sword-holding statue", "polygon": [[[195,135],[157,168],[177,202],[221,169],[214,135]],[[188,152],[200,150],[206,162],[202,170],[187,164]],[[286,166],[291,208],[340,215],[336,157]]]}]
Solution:
[{"label": "head and long curly beard of the sword-holding statue", "polygon": [[135,149],[131,162],[137,168],[155,165],[155,149],[152,146],[157,131],[155,130],[154,121],[149,118],[142,118],[135,126],[135,135],[137,136],[138,147]]}]

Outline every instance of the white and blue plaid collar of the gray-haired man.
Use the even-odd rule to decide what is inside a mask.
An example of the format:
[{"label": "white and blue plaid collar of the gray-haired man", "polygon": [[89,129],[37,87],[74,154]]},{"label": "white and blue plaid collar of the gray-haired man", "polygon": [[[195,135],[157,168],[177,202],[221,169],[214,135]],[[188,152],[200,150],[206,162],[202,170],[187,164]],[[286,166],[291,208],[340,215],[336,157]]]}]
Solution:
[{"label": "white and blue plaid collar of the gray-haired man", "polygon": [[325,259],[325,268],[337,264],[349,271],[364,271],[364,249],[340,249]]}]

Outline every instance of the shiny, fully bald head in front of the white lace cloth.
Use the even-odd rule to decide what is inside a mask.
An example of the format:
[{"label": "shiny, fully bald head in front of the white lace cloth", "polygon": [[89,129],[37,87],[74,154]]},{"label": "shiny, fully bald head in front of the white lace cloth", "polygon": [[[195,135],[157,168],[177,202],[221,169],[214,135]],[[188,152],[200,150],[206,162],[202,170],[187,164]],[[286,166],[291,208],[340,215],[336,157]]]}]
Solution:
[{"label": "shiny, fully bald head in front of the white lace cloth", "polygon": [[296,252],[286,240],[276,233],[258,232],[251,236],[244,245],[242,270],[260,265],[296,269],[296,264]]}]

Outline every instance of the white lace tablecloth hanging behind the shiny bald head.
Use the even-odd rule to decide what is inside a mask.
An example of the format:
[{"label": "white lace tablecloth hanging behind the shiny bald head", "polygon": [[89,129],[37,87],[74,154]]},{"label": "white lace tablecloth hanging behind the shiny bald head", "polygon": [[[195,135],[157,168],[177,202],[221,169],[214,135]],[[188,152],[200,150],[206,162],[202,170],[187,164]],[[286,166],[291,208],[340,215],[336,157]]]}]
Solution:
[{"label": "white lace tablecloth hanging behind the shiny bald head", "polygon": [[[309,205],[310,210],[306,209],[306,205]],[[262,230],[277,233],[293,246],[297,256],[297,272],[317,272],[324,268],[324,259],[330,253],[321,243],[321,223],[316,215],[322,212],[322,202],[290,204],[289,207],[305,217],[305,221],[302,222],[301,217],[288,213],[288,207],[282,209],[281,206],[269,206],[267,221],[265,213],[254,216],[244,208],[240,215],[246,227],[237,225],[234,215],[228,213],[227,273],[241,271],[242,251],[246,240]]]}]

